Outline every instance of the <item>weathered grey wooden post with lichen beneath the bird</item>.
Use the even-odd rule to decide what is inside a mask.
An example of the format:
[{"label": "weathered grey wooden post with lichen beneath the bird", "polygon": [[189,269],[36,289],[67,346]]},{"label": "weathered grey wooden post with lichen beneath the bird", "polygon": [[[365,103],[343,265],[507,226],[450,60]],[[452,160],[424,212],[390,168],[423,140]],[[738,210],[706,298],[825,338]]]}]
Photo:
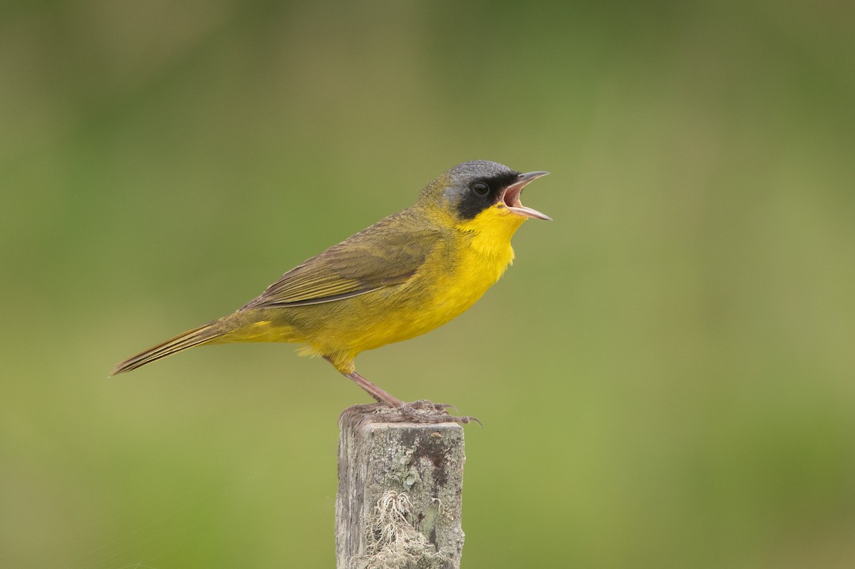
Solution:
[{"label": "weathered grey wooden post with lichen beneath the bird", "polygon": [[459,569],[463,427],[394,422],[375,405],[339,426],[337,569]]}]

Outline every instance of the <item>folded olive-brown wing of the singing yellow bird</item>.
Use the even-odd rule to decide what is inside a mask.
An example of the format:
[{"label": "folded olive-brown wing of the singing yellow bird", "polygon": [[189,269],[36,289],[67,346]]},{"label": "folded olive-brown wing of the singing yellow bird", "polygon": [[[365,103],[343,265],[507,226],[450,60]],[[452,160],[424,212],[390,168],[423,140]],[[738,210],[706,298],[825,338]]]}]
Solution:
[{"label": "folded olive-brown wing of the singing yellow bird", "polygon": [[295,307],[359,296],[407,282],[441,233],[392,215],[292,268],[246,308]]}]

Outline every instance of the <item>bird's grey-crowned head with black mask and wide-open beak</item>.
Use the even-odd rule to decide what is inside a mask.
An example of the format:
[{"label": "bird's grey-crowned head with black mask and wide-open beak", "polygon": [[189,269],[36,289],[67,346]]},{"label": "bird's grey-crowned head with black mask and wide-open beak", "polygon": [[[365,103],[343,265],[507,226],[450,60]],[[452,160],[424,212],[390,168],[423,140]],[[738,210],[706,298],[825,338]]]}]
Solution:
[{"label": "bird's grey-crowned head with black mask and wide-open beak", "polygon": [[519,173],[498,162],[463,162],[433,180],[419,203],[434,213],[447,214],[462,229],[504,226],[510,232],[524,220],[551,220],[548,215],[522,205],[522,189],[548,172]]}]

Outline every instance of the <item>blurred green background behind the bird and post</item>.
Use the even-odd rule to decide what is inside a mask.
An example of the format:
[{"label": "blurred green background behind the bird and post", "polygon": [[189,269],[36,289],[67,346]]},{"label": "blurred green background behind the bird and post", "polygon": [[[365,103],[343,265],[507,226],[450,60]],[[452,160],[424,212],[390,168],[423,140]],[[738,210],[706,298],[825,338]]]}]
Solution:
[{"label": "blurred green background behind the bird and post", "polygon": [[855,566],[853,6],[4,3],[0,566],[333,566],[361,390],[108,373],[471,159],[555,221],[357,361],[483,421],[464,566]]}]

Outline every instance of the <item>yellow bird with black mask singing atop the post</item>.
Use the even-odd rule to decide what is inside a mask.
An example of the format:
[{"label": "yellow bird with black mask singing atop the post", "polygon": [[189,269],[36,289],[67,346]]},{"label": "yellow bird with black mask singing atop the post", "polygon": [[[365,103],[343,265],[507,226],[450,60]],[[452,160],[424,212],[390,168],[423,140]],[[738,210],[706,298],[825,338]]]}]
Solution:
[{"label": "yellow bird with black mask singing atop the post", "polygon": [[122,361],[113,375],[202,344],[304,343],[302,355],[321,355],[377,402],[407,408],[359,375],[353,359],[431,331],[481,298],[513,261],[510,238],[522,222],[551,219],[520,202],[546,174],[459,164],[416,205],[292,268],[237,312]]}]

